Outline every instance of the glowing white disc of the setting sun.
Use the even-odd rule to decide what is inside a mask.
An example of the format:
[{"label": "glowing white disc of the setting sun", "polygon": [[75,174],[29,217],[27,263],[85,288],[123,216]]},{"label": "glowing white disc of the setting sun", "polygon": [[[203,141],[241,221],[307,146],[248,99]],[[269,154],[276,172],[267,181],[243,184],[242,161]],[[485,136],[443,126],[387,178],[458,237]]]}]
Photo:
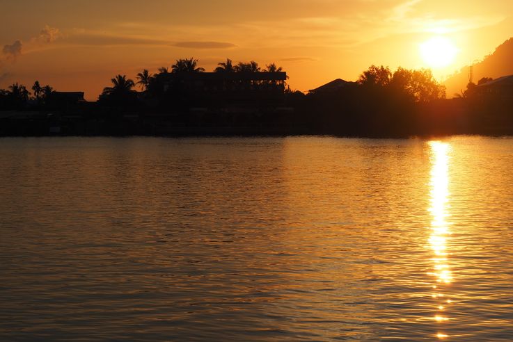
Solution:
[{"label": "glowing white disc of the setting sun", "polygon": [[420,44],[420,56],[433,69],[451,65],[456,58],[458,49],[449,39],[437,36]]}]

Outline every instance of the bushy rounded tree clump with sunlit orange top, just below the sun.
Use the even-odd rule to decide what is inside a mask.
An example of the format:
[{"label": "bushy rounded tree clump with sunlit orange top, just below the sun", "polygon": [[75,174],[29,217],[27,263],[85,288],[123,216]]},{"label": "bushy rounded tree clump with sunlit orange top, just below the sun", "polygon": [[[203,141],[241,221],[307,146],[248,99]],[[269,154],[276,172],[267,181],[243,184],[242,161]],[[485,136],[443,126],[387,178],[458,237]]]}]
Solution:
[{"label": "bushy rounded tree clump with sunlit orange top, just below the sun", "polygon": [[[445,99],[445,88],[430,70],[391,72],[372,65],[356,82],[310,92],[305,113],[315,111],[317,130],[343,136],[412,136],[436,133],[427,129],[420,111]],[[429,120],[427,120],[429,121]]]}]

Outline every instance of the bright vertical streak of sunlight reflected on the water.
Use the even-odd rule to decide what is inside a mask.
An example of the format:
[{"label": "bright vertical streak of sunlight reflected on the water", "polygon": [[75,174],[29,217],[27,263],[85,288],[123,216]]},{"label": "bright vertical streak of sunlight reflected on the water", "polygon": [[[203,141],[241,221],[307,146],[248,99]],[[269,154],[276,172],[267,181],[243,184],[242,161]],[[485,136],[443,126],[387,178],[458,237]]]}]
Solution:
[{"label": "bright vertical streak of sunlight reflected on the water", "polygon": [[[436,323],[443,324],[449,320],[444,314],[445,307],[451,303],[443,294],[443,288],[450,286],[452,282],[452,272],[448,262],[447,243],[451,234],[450,224],[447,222],[448,202],[449,202],[449,152],[450,145],[445,142],[429,142],[432,151],[432,170],[431,170],[431,234],[429,236],[429,246],[433,251],[433,272],[429,272],[435,280],[433,285],[432,297],[439,299],[436,305]],[[448,335],[441,332],[436,334],[439,339],[445,339]]]}]

